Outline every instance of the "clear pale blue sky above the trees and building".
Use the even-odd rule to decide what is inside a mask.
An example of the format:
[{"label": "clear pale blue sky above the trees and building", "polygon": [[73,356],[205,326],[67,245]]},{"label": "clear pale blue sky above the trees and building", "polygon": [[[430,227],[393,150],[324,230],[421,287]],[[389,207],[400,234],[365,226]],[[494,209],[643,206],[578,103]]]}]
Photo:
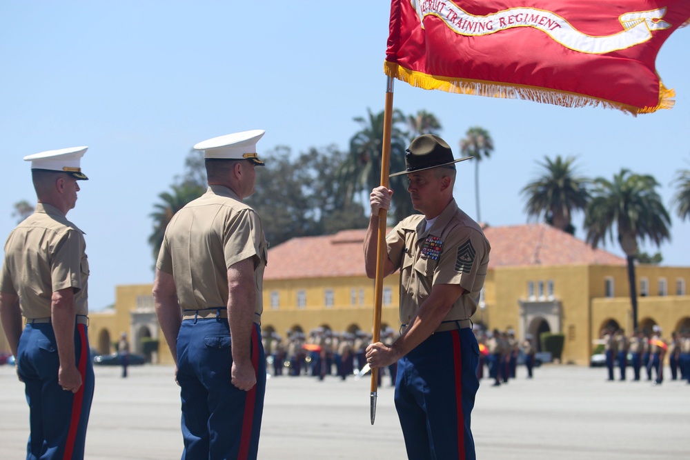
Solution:
[{"label": "clear pale blue sky above the trees and building", "polygon": [[[89,146],[81,166],[90,181],[68,217],[86,232],[90,308],[113,303],[117,285],[150,283],[148,215],[195,143],[264,129],[259,153],[346,149],[353,117],[383,110],[388,14],[383,0],[0,1],[0,239],[16,224],[14,203],[35,201],[22,157]],[[538,174],[535,161],[557,154],[577,156],[589,177],[653,174],[669,206],[676,170],[690,168],[689,43],[690,28],[678,30],[657,59],[676,107],[636,118],[400,81],[394,104],[435,114],[451,146],[471,126],[491,132],[495,152],[480,165],[491,226],[527,221],[520,190]],[[455,196],[474,216],[473,165],[459,170]],[[690,222],[672,219],[664,264],[687,266]],[[581,223],[576,215],[580,238]],[[615,242],[605,249],[620,254]]]}]

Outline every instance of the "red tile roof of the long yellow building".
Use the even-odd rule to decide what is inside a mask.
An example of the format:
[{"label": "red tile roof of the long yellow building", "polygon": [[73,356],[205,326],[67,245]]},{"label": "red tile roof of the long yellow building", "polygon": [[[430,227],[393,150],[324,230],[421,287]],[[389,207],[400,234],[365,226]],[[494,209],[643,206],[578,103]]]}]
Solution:
[{"label": "red tile roof of the long yellow building", "polygon": [[[264,279],[364,276],[366,230],[293,238],[268,250]],[[484,229],[491,243],[489,268],[511,266],[624,265],[611,252],[545,223]]]}]

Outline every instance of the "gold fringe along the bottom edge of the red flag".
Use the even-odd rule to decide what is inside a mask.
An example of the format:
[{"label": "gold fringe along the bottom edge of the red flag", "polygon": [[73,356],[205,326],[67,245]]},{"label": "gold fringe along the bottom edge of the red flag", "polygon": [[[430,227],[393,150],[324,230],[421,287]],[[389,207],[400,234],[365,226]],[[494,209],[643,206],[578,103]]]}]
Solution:
[{"label": "gold fringe along the bottom edge of the red flag", "polygon": [[654,107],[635,107],[628,104],[586,96],[575,92],[552,90],[536,86],[517,85],[513,83],[501,83],[496,81],[470,80],[449,77],[436,77],[422,72],[408,70],[397,63],[384,61],[384,72],[388,77],[396,78],[411,86],[424,90],[442,90],[457,92],[460,94],[474,94],[485,97],[500,97],[503,99],[524,99],[540,103],[549,103],[563,107],[603,107],[621,110],[632,114],[633,117],[640,113],[656,112],[659,109],[673,107],[676,97],[674,90],[669,90],[660,83],[659,103]]}]

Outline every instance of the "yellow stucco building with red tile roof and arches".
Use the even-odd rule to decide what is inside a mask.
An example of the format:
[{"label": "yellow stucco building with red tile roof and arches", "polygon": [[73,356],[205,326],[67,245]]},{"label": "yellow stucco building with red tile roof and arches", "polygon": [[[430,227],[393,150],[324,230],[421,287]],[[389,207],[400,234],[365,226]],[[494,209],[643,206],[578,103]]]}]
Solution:
[{"label": "yellow stucco building with red tile roof and arches", "polygon": [[[564,334],[562,362],[585,365],[602,328],[632,332],[625,260],[546,224],[485,228],[491,262],[475,324],[538,337]],[[268,252],[264,276],[262,330],[286,337],[317,327],[335,332],[371,332],[373,280],[364,274],[364,230],[295,238]],[[690,267],[636,268],[638,324],[651,330],[690,329]],[[382,324],[397,330],[397,273],[384,280]],[[114,351],[121,332],[131,348],[159,340],[152,362],[171,363],[159,329],[150,283],[118,286],[112,309],[90,314],[89,339],[99,353]],[[4,337],[0,337],[4,339]],[[0,341],[0,343],[2,343]]]}]

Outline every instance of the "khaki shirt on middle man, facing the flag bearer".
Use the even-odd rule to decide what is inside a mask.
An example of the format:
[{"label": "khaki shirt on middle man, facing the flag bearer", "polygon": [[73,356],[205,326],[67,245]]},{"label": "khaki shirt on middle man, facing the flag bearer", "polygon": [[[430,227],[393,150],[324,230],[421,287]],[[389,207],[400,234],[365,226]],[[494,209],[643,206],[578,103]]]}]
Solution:
[{"label": "khaki shirt on middle man, facing the flag bearer", "polygon": [[166,228],[156,266],[172,274],[183,310],[228,305],[228,268],[253,259],[255,323],[260,323],[268,243],[259,215],[229,188],[209,186]]}]

